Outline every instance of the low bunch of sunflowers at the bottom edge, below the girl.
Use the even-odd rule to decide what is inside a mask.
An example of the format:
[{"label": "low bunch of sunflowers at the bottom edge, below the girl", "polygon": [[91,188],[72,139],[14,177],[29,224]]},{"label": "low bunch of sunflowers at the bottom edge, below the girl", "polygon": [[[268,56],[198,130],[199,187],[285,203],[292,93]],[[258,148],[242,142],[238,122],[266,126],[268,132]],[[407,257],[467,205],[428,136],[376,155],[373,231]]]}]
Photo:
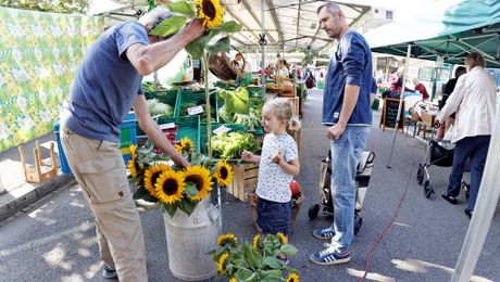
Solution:
[{"label": "low bunch of sunflowers at the bottom edge, below the girl", "polygon": [[297,248],[283,233],[257,234],[252,244],[239,243],[233,233],[222,234],[216,248],[211,251],[217,262],[217,273],[229,281],[286,281],[298,282],[299,273],[278,259],[279,254],[295,256]]}]

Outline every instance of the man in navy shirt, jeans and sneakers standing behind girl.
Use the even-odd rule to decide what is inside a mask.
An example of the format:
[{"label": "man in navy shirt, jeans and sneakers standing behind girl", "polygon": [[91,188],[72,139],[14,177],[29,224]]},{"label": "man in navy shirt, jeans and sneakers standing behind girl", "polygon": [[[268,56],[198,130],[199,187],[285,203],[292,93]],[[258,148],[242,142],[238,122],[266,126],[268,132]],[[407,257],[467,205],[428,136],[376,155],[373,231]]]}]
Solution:
[{"label": "man in navy shirt, jeans and sneakers standing behind girl", "polygon": [[332,56],[323,98],[323,125],[332,150],[332,197],[334,225],[316,229],[313,235],[332,244],[311,255],[317,265],[343,264],[351,259],[354,236],[357,165],[366,144],[372,124],[372,52],[364,38],[350,30],[335,3],[317,9],[320,26],[329,38],[339,40]]}]

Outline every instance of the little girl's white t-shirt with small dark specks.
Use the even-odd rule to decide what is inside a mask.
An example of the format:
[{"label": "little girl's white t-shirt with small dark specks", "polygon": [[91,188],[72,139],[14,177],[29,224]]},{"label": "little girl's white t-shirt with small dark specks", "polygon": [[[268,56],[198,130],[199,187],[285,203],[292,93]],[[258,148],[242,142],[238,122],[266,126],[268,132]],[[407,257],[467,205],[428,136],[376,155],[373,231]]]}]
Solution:
[{"label": "little girl's white t-shirt with small dark specks", "polygon": [[255,193],[259,197],[277,203],[287,203],[291,200],[290,182],[293,179],[283,168],[271,161],[271,156],[282,149],[285,162],[289,163],[299,156],[297,142],[289,134],[264,137],[261,163],[259,164],[259,179]]}]

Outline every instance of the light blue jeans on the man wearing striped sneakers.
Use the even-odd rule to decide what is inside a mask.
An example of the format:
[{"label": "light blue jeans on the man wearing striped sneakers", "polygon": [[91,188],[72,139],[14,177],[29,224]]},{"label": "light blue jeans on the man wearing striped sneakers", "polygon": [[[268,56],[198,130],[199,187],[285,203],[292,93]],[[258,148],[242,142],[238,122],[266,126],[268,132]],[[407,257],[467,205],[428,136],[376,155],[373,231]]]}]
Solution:
[{"label": "light blue jeans on the man wearing striped sneakers", "polygon": [[354,239],[354,178],[368,133],[368,126],[347,126],[339,139],[330,141],[335,230],[332,241],[346,248],[351,246]]}]

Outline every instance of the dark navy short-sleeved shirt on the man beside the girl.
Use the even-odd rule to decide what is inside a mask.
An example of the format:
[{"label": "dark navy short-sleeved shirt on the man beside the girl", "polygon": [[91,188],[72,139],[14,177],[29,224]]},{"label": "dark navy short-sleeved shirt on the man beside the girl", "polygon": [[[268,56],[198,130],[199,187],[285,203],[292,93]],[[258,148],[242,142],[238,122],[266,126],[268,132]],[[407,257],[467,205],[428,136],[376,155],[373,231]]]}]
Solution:
[{"label": "dark navy short-sleeved shirt on the man beside the girl", "polygon": [[323,125],[330,126],[338,123],[346,85],[354,85],[360,87],[360,94],[347,124],[370,126],[372,124],[370,93],[374,88],[372,51],[360,34],[350,30],[340,38],[327,75],[323,97]]}]

